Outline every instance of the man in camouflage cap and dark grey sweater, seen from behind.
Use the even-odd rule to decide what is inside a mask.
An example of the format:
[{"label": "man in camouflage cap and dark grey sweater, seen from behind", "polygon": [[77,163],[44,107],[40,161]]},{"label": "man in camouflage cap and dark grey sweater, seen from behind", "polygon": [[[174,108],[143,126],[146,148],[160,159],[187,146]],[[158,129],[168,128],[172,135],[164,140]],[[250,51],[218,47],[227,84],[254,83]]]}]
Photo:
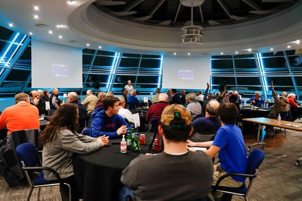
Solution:
[{"label": "man in camouflage cap and dark grey sweater, seen from behind", "polygon": [[[191,116],[182,105],[167,106],[159,134],[164,152],[140,154],[124,169],[121,182],[133,190],[135,200],[193,200],[206,197],[213,182],[211,158],[202,151],[188,151],[186,140],[193,129]],[[127,188],[128,187],[128,188]],[[130,191],[130,194],[133,195]],[[126,200],[122,198],[120,200]]]}]

